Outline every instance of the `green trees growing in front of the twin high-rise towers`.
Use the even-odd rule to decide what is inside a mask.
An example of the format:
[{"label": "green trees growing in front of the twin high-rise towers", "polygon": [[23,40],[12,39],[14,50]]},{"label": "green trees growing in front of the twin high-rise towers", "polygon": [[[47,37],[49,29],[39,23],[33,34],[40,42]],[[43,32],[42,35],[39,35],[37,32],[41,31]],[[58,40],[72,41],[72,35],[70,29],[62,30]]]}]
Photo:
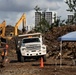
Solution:
[{"label": "green trees growing in front of the twin high-rise towers", "polygon": [[45,12],[46,11],[44,11],[44,13],[42,14],[40,12],[41,9],[40,9],[40,7],[38,7],[38,5],[34,9],[37,13],[40,14],[40,22],[38,25],[35,26],[35,29],[34,29],[36,32],[45,33],[47,31],[49,31],[50,29],[52,29],[53,27],[59,27],[59,26],[64,25],[65,20],[60,20],[61,16],[57,17],[56,13],[54,14],[54,17],[53,17],[54,23],[49,25],[49,23],[45,19]]}]

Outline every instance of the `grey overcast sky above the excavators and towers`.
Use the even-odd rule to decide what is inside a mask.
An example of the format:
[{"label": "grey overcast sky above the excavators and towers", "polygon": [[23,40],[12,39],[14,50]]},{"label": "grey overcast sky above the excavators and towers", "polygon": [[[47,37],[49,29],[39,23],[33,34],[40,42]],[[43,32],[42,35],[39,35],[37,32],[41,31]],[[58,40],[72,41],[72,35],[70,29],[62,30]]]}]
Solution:
[{"label": "grey overcast sky above the excavators and towers", "polygon": [[27,25],[35,23],[35,6],[38,5],[42,11],[49,8],[56,11],[61,19],[67,18],[68,6],[64,0],[0,0],[0,23],[6,20],[7,25],[15,26],[16,22],[26,14]]}]

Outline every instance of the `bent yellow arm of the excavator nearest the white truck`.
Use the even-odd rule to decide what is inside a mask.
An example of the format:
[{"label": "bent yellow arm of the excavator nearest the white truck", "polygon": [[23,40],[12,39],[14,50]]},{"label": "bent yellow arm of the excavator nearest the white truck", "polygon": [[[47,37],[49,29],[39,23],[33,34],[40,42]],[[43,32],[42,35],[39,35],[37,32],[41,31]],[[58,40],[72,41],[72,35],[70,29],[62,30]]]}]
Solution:
[{"label": "bent yellow arm of the excavator nearest the white truck", "polygon": [[20,23],[23,23],[23,31],[24,31],[24,29],[25,29],[25,24],[26,24],[26,15],[25,14],[23,14],[22,16],[21,16],[21,18],[19,19],[19,21],[16,23],[16,25],[15,25],[15,30],[14,30],[14,35],[16,36],[16,35],[18,35],[18,26],[20,25]]}]

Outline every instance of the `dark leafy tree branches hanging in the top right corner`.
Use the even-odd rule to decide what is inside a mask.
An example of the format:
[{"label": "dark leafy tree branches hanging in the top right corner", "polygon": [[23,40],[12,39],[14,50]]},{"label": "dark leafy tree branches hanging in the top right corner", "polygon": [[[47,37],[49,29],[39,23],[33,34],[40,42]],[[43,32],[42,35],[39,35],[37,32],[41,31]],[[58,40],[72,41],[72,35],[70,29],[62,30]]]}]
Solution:
[{"label": "dark leafy tree branches hanging in the top right corner", "polygon": [[76,0],[66,0],[66,4],[69,7],[67,11],[74,12],[74,16],[73,19],[71,20],[71,23],[76,24]]}]

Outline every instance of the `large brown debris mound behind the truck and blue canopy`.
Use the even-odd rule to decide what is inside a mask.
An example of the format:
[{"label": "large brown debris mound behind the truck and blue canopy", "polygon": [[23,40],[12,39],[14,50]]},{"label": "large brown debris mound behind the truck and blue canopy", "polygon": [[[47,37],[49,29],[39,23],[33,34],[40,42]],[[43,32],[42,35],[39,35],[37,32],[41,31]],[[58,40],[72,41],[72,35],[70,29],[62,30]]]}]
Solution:
[{"label": "large brown debris mound behind the truck and blue canopy", "polygon": [[[65,25],[61,27],[54,27],[49,32],[46,32],[44,34],[44,43],[47,45],[47,52],[50,55],[58,54],[60,51],[60,44],[57,40],[58,37],[65,35],[69,32],[76,31],[75,25]],[[75,42],[64,42],[63,43],[63,53],[68,52],[69,50],[72,50],[75,48]]]}]

